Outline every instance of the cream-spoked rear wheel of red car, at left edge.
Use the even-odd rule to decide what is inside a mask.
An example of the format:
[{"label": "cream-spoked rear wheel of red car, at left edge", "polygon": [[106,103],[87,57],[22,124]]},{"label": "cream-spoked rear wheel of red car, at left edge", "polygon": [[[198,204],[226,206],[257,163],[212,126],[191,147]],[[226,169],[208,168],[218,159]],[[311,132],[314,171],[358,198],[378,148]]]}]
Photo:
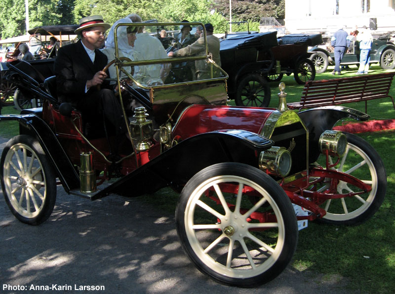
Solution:
[{"label": "cream-spoked rear wheel of red car, at left edge", "polygon": [[28,135],[8,141],[1,154],[1,187],[17,219],[38,225],[51,214],[56,200],[56,175],[40,143]]}]

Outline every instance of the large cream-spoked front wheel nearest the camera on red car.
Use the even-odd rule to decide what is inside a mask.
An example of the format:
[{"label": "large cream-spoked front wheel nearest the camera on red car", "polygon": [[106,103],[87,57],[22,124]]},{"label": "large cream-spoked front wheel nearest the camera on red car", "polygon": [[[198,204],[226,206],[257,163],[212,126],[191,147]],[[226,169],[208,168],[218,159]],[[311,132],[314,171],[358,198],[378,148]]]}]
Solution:
[{"label": "large cream-spoked front wheel nearest the camera on red car", "polygon": [[[251,202],[249,195],[259,201]],[[204,168],[188,181],[177,204],[176,227],[184,251],[202,273],[239,287],[274,279],[298,239],[295,212],[281,187],[265,172],[239,163]]]}]

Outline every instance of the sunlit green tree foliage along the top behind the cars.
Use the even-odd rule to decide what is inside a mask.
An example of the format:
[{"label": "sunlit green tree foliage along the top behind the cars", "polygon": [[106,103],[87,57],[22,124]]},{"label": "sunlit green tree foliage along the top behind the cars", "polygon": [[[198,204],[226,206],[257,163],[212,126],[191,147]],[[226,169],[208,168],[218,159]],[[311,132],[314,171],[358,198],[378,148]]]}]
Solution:
[{"label": "sunlit green tree foliage along the top behind the cars", "polygon": [[[30,28],[39,25],[78,24],[88,15],[102,15],[108,23],[131,13],[159,22],[210,22],[222,33],[229,21],[229,0],[28,0]],[[257,28],[261,17],[284,18],[285,0],[233,0],[232,20]],[[0,37],[26,34],[25,0],[0,1]],[[255,28],[255,29],[256,29]]]}]

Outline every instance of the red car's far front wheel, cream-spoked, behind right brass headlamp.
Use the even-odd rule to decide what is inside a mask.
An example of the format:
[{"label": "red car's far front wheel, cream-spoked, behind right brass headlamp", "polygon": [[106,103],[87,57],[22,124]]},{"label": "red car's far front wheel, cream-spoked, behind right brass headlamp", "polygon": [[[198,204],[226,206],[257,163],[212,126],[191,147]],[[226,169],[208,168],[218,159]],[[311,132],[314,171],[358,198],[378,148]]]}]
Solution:
[{"label": "red car's far front wheel, cream-spoked, behind right brass headlamp", "polygon": [[[325,201],[320,207],[327,213],[323,218],[317,220],[330,224],[355,225],[367,220],[380,208],[386,194],[387,175],[380,156],[372,146],[357,135],[345,134],[348,147],[345,155],[334,169],[354,175],[364,183],[370,184],[372,190],[353,197]],[[336,162],[336,159],[333,159],[333,162]],[[324,191],[328,185],[323,185],[319,191]],[[340,181],[337,191],[338,193],[348,193],[358,190],[355,186]]]}]

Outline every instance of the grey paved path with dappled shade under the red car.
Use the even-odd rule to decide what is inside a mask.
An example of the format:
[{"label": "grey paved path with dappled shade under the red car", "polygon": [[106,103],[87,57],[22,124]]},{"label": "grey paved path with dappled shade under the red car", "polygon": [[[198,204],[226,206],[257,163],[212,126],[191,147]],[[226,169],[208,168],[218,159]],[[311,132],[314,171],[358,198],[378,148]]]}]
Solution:
[{"label": "grey paved path with dappled shade under the red car", "polygon": [[[0,151],[4,142],[0,138]],[[57,286],[49,291],[30,290],[52,285]],[[104,290],[77,291],[75,285]],[[182,251],[174,216],[138,198],[113,195],[91,202],[59,187],[50,218],[30,226],[13,217],[0,195],[0,293],[351,293],[345,285],[341,277],[292,266],[259,288],[219,285]],[[27,290],[10,290],[18,286]]]}]

